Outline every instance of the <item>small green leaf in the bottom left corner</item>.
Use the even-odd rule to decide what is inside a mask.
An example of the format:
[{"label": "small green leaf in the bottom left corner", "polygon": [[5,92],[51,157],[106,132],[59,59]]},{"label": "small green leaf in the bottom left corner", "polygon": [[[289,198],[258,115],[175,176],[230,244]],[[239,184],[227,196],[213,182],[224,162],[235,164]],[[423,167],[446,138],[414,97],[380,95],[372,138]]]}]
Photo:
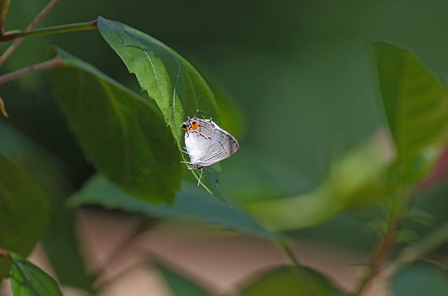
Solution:
[{"label": "small green leaf in the bottom left corner", "polygon": [[62,296],[59,285],[42,269],[16,253],[9,252],[9,257],[13,260],[10,270],[13,296]]}]

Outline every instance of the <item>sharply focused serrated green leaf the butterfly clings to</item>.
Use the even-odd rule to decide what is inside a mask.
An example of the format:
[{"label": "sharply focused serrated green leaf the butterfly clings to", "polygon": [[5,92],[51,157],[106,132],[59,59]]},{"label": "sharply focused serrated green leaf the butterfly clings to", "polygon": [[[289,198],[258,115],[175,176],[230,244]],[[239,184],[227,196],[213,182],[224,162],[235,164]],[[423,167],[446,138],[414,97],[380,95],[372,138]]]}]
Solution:
[{"label": "sharply focused serrated green leaf the butterfly clings to", "polygon": [[[186,59],[157,39],[120,22],[99,17],[98,29],[123,59],[130,73],[137,76],[141,89],[146,90],[158,104],[180,149],[184,146],[184,131],[180,126],[186,120],[186,115],[199,115],[196,111],[199,110],[220,123],[214,94]],[[183,157],[186,160],[185,155]],[[224,200],[218,190],[218,171],[221,171],[219,166],[205,168],[207,174],[202,176],[202,185],[211,194]],[[199,180],[199,172],[191,172]]]}]

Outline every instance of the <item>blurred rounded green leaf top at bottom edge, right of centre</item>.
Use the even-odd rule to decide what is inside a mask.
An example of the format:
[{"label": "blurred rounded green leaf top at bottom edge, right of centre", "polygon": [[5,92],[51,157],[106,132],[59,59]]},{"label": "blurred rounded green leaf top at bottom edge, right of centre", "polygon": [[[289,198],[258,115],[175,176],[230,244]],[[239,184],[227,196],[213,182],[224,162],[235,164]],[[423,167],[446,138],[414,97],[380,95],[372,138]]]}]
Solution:
[{"label": "blurred rounded green leaf top at bottom edge, right of centre", "polygon": [[336,296],[345,295],[325,276],[314,269],[304,267],[277,267],[262,274],[241,291],[241,296]]}]

